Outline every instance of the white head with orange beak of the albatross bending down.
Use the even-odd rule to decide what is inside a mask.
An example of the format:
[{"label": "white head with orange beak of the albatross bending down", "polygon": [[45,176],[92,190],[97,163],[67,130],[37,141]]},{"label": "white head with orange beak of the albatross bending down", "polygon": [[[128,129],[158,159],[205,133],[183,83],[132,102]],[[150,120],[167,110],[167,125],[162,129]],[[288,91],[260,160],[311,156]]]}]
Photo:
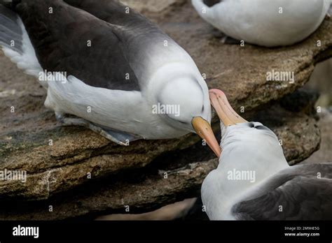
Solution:
[{"label": "white head with orange beak of the albatross bending down", "polygon": [[158,92],[158,103],[168,110],[162,117],[170,126],[197,133],[219,156],[219,142],[212,131],[209,91],[204,80],[177,78],[164,84]]}]

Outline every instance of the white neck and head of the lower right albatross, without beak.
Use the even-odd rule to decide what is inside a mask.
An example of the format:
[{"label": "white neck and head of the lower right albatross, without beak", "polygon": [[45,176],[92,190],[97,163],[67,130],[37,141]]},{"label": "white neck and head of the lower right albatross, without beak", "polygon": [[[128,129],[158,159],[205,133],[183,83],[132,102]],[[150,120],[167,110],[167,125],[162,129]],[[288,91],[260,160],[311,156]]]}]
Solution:
[{"label": "white neck and head of the lower right albatross, without beak", "polygon": [[224,136],[218,168],[202,184],[202,200],[210,219],[233,219],[230,209],[236,202],[289,167],[274,133],[253,131],[254,135],[236,129]]}]

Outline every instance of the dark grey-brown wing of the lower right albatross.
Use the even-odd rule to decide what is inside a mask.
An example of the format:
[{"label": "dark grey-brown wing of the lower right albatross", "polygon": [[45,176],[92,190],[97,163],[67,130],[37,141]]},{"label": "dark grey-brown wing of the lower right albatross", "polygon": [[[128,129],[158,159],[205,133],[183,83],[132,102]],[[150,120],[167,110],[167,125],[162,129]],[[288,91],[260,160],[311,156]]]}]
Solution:
[{"label": "dark grey-brown wing of the lower right albatross", "polygon": [[331,220],[332,164],[282,170],[232,212],[240,220]]}]

